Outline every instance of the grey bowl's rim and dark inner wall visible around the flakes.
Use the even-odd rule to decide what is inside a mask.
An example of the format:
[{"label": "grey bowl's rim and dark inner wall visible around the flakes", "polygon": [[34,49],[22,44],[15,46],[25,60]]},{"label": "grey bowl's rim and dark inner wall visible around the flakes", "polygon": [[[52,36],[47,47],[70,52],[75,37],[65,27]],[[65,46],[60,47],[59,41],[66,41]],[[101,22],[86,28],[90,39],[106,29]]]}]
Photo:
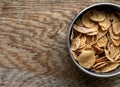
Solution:
[{"label": "grey bowl's rim and dark inner wall visible around the flakes", "polygon": [[75,18],[72,20],[70,26],[69,26],[69,31],[68,31],[68,39],[67,39],[67,43],[68,43],[68,51],[69,51],[69,54],[70,54],[70,57],[72,59],[72,61],[74,62],[74,64],[82,71],[84,71],[85,73],[89,74],[89,75],[92,75],[92,76],[95,76],[95,77],[111,77],[111,76],[116,76],[118,74],[120,74],[120,67],[118,67],[117,69],[111,71],[111,72],[107,72],[107,73],[96,73],[96,72],[92,72],[90,70],[87,70],[85,68],[83,68],[81,65],[78,64],[78,62],[74,59],[71,51],[70,51],[70,46],[71,46],[71,43],[70,43],[70,36],[71,36],[71,32],[72,32],[72,26],[73,24],[76,22],[76,20],[81,16],[83,15],[84,13],[88,12],[89,10],[91,9],[96,9],[96,8],[100,8],[100,9],[104,9],[104,8],[109,8],[109,9],[114,9],[118,12],[120,12],[120,6],[117,5],[117,4],[114,4],[114,3],[97,3],[97,4],[93,4],[93,5],[90,5],[88,7],[86,7],[85,9],[83,9],[82,11],[80,11],[78,13],[77,16],[75,16]]}]

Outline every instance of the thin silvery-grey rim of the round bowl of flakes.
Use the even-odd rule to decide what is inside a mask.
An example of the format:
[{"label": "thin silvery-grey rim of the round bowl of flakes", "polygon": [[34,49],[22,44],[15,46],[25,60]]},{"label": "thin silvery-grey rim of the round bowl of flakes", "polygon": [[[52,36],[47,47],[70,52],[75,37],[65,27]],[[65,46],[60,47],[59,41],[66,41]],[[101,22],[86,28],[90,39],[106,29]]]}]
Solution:
[{"label": "thin silvery-grey rim of the round bowl of flakes", "polygon": [[96,7],[96,6],[113,6],[113,7],[117,7],[120,9],[120,5],[118,4],[114,4],[114,3],[96,3],[96,4],[92,4],[84,9],[82,9],[72,20],[72,22],[70,23],[70,26],[68,28],[68,35],[67,35],[67,43],[68,43],[68,52],[69,52],[69,55],[72,59],[72,61],[74,62],[74,64],[80,69],[82,70],[83,72],[89,74],[89,75],[92,75],[92,76],[95,76],[95,77],[112,77],[112,76],[116,76],[118,74],[120,74],[120,71],[119,72],[116,72],[116,73],[113,73],[113,74],[109,74],[109,75],[100,75],[100,74],[97,74],[95,72],[90,72],[89,70],[83,68],[81,65],[79,65],[76,60],[74,59],[71,51],[70,51],[70,33],[71,33],[71,30],[72,30],[72,26],[74,24],[74,22],[77,20],[77,18],[85,11],[87,10],[90,10],[91,8],[93,7]]}]

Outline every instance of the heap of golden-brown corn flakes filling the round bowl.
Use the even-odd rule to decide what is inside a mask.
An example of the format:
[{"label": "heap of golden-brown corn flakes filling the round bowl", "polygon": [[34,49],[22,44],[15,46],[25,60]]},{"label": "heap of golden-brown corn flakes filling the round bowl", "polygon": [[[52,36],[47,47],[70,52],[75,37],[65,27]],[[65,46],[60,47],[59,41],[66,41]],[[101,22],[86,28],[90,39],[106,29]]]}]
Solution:
[{"label": "heap of golden-brown corn flakes filling the round bowl", "polygon": [[120,13],[90,10],[71,33],[71,53],[84,68],[101,73],[120,65]]}]

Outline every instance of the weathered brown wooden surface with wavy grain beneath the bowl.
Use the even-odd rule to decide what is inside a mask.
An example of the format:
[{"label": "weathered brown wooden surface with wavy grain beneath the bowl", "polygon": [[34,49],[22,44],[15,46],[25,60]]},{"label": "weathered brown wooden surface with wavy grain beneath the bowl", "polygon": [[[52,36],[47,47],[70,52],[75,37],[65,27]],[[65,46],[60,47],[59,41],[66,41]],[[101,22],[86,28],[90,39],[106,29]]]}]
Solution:
[{"label": "weathered brown wooden surface with wavy grain beneath the bowl", "polygon": [[83,8],[120,0],[0,0],[0,87],[120,87],[120,75],[80,71],[67,51],[68,26]]}]

